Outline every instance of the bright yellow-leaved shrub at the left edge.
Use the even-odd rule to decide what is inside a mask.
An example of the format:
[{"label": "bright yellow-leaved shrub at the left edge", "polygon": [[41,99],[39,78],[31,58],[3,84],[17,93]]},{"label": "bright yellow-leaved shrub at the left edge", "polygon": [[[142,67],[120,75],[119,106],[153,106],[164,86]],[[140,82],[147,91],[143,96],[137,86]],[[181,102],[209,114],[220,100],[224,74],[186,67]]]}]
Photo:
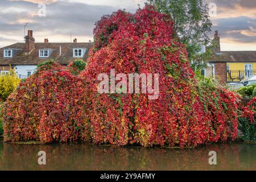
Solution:
[{"label": "bright yellow-leaved shrub at the left edge", "polygon": [[16,89],[20,80],[16,76],[14,69],[10,67],[8,73],[2,73],[0,75],[0,97],[2,101],[5,101],[7,97]]}]

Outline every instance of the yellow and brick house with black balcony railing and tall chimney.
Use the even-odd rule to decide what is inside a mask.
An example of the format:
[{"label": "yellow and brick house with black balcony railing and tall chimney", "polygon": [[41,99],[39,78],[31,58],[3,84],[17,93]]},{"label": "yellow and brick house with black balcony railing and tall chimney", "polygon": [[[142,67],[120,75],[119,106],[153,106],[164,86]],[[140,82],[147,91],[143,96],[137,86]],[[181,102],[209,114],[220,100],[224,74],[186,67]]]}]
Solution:
[{"label": "yellow and brick house with black balcony railing and tall chimney", "polygon": [[237,84],[256,74],[256,51],[221,51],[220,36],[215,31],[213,48],[212,74],[221,82]]}]

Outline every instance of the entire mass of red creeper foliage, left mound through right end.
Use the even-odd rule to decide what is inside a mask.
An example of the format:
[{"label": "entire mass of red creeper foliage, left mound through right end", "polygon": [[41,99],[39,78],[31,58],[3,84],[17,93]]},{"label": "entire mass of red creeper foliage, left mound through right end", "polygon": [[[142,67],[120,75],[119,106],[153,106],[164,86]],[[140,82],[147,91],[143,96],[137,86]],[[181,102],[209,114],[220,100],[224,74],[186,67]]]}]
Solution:
[{"label": "entire mass of red creeper foliage, left mound through right end", "polygon": [[[41,66],[6,103],[5,141],[141,144],[195,147],[237,138],[238,97],[199,86],[169,16],[146,5],[117,11],[94,29],[95,46],[79,76],[60,65]],[[46,67],[44,69],[44,67]],[[100,73],[159,73],[159,98],[100,94]]]}]

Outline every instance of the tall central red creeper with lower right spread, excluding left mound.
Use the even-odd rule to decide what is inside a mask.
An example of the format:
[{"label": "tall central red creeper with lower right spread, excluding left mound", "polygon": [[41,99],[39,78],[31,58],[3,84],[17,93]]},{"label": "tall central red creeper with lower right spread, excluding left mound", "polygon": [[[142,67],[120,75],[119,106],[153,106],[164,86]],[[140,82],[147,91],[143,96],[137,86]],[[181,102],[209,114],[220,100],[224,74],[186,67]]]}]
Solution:
[{"label": "tall central red creeper with lower right spread, excluding left mound", "polygon": [[[172,39],[172,30],[170,17],[151,6],[133,15],[118,11],[96,24],[96,46],[81,73],[93,93],[86,94],[93,143],[195,147],[237,138],[237,94],[198,88],[187,51]],[[148,100],[148,94],[97,93],[97,76],[113,68],[159,73],[158,100]]]}]

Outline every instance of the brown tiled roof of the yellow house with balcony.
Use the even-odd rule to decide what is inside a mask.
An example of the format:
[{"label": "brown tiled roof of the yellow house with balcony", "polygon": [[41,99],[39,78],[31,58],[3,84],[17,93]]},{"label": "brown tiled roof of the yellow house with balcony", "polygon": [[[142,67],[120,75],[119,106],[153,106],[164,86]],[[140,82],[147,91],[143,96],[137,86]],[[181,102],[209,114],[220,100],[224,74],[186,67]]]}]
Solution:
[{"label": "brown tiled roof of the yellow house with balcony", "polygon": [[221,53],[215,53],[210,61],[210,63],[222,62],[256,62],[256,51],[221,51]]}]

